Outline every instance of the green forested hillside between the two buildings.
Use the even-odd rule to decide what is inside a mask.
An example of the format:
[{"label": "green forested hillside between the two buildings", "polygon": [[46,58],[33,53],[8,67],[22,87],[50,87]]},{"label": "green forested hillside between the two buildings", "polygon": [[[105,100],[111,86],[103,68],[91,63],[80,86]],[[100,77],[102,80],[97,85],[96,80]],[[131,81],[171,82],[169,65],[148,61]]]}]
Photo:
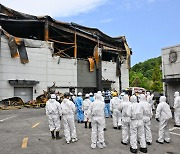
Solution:
[{"label": "green forested hillside between the two buildings", "polygon": [[135,64],[129,72],[130,87],[162,92],[161,56]]}]

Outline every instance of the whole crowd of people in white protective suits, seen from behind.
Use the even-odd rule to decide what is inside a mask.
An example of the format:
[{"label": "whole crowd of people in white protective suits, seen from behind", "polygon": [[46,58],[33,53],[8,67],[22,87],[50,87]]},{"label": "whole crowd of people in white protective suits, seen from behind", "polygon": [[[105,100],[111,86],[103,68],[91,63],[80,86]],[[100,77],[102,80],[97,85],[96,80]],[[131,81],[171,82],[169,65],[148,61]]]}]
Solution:
[{"label": "whole crowd of people in white protective suits, seen from behind", "polygon": [[[175,126],[180,127],[180,96],[179,92],[174,94],[174,110],[175,110]],[[130,143],[130,151],[137,153],[138,146],[140,144],[139,151],[147,153],[147,145],[152,144],[151,133],[151,119],[153,116],[152,104],[149,103],[149,95],[140,94],[137,96],[128,95],[122,96],[120,99],[117,95],[114,95],[110,101],[110,110],[112,112],[113,127],[114,129],[122,129],[123,145]],[[89,128],[92,127],[91,132],[91,148],[96,147],[105,148],[104,128],[105,124],[105,103],[102,93],[98,91],[93,99],[90,99],[90,95],[86,94],[85,99],[82,102],[81,110],[84,113],[85,128],[89,123]],[[70,101],[69,93],[64,93],[64,100],[62,103],[56,101],[54,94],[46,103],[46,114],[49,118],[49,128],[52,134],[52,139],[60,139],[60,116],[62,117],[64,124],[64,136],[66,143],[76,142],[76,127],[74,122],[74,114],[77,108],[75,104]],[[170,135],[168,129],[169,119],[172,118],[170,106],[166,102],[166,97],[161,96],[159,104],[156,108],[155,118],[159,122],[159,137],[156,140],[157,143],[163,144],[170,143]],[[56,136],[55,136],[55,135]]]}]

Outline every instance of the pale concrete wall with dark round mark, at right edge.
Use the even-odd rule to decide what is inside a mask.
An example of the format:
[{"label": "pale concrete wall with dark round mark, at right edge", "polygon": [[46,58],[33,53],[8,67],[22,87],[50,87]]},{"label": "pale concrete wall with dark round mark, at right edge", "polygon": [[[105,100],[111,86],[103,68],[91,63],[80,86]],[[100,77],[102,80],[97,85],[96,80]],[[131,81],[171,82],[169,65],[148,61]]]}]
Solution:
[{"label": "pale concrete wall with dark round mark, at right edge", "polygon": [[[174,63],[169,61],[169,54],[171,50],[174,50],[177,53],[177,61]],[[180,78],[180,45],[163,48],[161,51],[163,79]],[[163,86],[165,94],[167,95],[167,102],[172,107],[174,105],[174,92],[180,92],[180,82],[168,82],[164,83]]]}]

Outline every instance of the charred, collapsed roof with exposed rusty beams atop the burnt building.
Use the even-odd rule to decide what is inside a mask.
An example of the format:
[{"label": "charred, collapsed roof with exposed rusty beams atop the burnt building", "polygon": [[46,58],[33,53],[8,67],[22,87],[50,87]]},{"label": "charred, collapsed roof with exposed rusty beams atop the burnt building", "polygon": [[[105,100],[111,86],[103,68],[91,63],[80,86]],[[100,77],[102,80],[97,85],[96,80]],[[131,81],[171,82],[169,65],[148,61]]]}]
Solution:
[{"label": "charred, collapsed roof with exposed rusty beams atop the burnt building", "polygon": [[131,54],[124,36],[112,38],[96,28],[60,22],[50,16],[20,13],[2,4],[0,24],[4,30],[16,37],[54,42],[55,54],[62,57],[93,57],[96,45],[103,49],[102,60],[109,60],[112,56],[117,58],[117,54],[127,55],[129,58]]}]

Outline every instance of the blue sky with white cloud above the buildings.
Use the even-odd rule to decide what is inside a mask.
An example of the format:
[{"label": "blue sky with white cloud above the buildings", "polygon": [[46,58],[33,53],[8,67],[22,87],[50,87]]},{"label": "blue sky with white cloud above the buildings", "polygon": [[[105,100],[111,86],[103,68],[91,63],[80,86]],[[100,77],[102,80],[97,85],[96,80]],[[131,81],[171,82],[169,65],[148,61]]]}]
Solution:
[{"label": "blue sky with white cloud above the buildings", "polygon": [[131,66],[180,44],[180,0],[0,0],[16,11],[50,15],[63,22],[98,28],[111,37],[125,36]]}]

